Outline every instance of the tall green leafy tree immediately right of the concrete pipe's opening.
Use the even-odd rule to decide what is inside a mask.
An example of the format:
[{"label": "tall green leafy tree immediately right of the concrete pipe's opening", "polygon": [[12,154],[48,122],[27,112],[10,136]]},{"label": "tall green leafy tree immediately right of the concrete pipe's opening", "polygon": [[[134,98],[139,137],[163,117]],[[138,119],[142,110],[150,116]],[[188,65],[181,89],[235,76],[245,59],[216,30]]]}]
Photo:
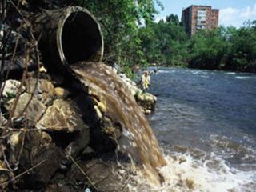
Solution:
[{"label": "tall green leafy tree immediately right of the concrete pipe's opening", "polygon": [[139,26],[148,25],[157,13],[158,0],[82,0],[78,3],[86,7],[98,18],[105,40],[106,62],[118,62],[122,67],[136,64],[146,65],[142,52]]}]

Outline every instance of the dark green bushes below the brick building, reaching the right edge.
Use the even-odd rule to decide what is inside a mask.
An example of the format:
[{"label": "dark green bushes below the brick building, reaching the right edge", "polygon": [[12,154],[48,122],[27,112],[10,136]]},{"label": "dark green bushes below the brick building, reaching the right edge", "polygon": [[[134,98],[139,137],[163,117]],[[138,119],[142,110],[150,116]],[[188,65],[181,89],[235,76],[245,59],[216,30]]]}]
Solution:
[{"label": "dark green bushes below the brick building, reaching the right edge", "polygon": [[202,30],[190,39],[190,67],[256,72],[256,28]]}]

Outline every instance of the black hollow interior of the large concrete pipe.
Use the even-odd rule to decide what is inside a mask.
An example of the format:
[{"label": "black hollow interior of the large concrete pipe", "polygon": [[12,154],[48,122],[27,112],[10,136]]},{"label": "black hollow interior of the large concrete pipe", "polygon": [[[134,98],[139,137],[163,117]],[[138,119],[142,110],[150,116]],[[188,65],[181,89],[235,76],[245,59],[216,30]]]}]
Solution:
[{"label": "black hollow interior of the large concrete pipe", "polygon": [[98,25],[89,14],[70,14],[62,29],[62,49],[69,64],[88,61],[102,46]]}]

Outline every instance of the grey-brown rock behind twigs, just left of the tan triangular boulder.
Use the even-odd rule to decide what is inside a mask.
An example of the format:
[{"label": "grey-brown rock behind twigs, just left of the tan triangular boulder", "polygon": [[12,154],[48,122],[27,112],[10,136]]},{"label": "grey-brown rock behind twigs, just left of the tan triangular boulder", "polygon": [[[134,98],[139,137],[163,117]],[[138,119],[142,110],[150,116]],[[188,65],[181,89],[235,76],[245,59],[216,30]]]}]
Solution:
[{"label": "grey-brown rock behind twigs, just left of the tan triangular boulder", "polygon": [[[14,102],[15,98],[11,99],[9,102],[6,102],[4,105],[6,110],[10,111],[14,105]],[[30,104],[26,108],[26,105],[29,102]],[[42,102],[38,101],[38,99],[34,97],[31,98],[31,94],[25,93],[22,94],[18,99],[18,103],[14,111],[14,118],[19,118],[20,115],[22,117],[25,116],[30,123],[30,126],[34,126],[36,122],[38,122],[39,118],[42,117],[45,110],[46,106]]]}]

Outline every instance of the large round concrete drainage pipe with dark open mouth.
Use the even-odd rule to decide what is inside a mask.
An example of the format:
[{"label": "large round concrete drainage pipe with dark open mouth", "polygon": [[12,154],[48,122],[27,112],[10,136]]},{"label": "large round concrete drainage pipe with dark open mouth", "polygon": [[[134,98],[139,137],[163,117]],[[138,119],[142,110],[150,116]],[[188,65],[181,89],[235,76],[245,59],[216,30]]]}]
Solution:
[{"label": "large round concrete drainage pipe with dark open mouth", "polygon": [[65,73],[63,66],[75,62],[102,61],[102,30],[88,10],[80,6],[46,10],[32,25],[48,70]]}]

